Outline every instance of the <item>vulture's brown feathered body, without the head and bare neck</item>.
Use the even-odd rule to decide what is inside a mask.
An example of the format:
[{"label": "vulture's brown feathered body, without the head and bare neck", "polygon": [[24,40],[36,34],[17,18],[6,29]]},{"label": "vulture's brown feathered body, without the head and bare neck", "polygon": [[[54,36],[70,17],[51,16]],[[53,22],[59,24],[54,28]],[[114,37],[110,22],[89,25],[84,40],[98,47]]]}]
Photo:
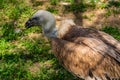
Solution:
[{"label": "vulture's brown feathered body, without the head and bare neck", "polygon": [[68,27],[52,39],[54,54],[77,77],[100,80],[120,79],[120,42],[89,28]]}]

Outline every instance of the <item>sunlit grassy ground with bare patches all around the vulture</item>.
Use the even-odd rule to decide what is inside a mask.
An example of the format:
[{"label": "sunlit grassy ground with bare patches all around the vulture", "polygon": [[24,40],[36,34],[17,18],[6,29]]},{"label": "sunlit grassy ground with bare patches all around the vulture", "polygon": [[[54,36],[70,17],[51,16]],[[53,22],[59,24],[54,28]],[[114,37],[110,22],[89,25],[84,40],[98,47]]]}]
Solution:
[{"label": "sunlit grassy ground with bare patches all around the vulture", "polygon": [[[85,0],[83,0],[85,1]],[[78,80],[67,72],[51,51],[50,41],[38,27],[25,29],[37,10],[82,27],[103,30],[120,40],[120,1],[0,0],[0,80]]]}]

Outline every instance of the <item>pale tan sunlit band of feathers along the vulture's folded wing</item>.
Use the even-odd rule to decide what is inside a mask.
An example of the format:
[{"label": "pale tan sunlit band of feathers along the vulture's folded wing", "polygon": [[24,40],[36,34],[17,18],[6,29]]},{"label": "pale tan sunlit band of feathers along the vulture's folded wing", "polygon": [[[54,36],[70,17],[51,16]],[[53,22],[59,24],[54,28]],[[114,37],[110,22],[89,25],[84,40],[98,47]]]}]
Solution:
[{"label": "pale tan sunlit band of feathers along the vulture's folded wing", "polygon": [[103,56],[105,56],[105,54],[108,54],[120,62],[120,53],[111,46],[106,45],[103,41],[95,38],[86,38],[83,43],[94,51],[101,53]]}]

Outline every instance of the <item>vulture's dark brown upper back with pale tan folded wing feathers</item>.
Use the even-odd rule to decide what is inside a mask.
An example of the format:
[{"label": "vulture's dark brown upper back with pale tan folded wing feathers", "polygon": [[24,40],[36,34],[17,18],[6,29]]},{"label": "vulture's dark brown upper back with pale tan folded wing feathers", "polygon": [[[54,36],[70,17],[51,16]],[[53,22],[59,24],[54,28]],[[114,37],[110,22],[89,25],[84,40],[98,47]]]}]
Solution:
[{"label": "vulture's dark brown upper back with pale tan folded wing feathers", "polygon": [[103,56],[108,54],[120,62],[120,42],[102,31],[74,26],[67,31],[63,39],[78,44],[82,42]]}]

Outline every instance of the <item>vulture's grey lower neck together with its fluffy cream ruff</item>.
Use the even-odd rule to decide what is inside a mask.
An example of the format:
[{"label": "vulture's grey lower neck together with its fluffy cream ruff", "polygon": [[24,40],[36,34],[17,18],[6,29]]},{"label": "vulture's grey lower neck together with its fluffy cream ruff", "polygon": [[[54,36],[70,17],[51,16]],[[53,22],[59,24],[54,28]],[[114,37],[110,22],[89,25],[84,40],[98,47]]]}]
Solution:
[{"label": "vulture's grey lower neck together with its fluffy cream ruff", "polygon": [[43,30],[48,38],[63,38],[74,25],[72,20],[61,21],[59,27],[55,27],[54,24],[48,22],[44,25]]}]

